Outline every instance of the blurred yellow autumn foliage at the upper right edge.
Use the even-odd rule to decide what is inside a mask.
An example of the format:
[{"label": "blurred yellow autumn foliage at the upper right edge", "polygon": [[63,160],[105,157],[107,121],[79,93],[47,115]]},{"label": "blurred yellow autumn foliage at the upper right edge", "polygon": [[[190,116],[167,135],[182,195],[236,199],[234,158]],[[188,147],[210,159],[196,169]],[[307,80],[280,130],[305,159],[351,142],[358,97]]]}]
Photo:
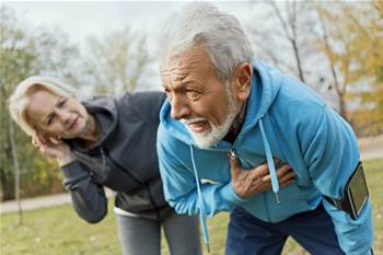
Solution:
[{"label": "blurred yellow autumn foliage at the upper right edge", "polygon": [[[335,3],[334,3],[335,4]],[[318,42],[334,71],[343,101],[357,104],[340,111],[359,135],[383,131],[383,20],[382,3],[318,4],[327,42]],[[346,107],[346,105],[343,105]]]}]

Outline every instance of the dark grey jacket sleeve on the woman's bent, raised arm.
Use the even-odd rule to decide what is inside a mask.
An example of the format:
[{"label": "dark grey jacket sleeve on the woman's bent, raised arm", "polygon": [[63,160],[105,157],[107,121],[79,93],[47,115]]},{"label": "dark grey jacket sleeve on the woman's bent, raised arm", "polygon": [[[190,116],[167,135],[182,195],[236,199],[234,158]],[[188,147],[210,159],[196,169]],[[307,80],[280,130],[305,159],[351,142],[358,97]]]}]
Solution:
[{"label": "dark grey jacket sleeve on the woman's bent, raised arm", "polygon": [[107,213],[107,198],[103,186],[94,183],[84,167],[78,160],[62,166],[66,177],[63,185],[79,217],[89,223],[96,223]]}]

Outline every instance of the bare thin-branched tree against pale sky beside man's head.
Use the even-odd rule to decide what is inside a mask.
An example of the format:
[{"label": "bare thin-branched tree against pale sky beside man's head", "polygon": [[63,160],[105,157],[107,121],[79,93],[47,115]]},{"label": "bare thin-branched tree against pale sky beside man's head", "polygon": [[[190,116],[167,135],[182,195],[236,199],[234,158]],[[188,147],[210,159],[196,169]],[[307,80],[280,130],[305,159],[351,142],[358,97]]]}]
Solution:
[{"label": "bare thin-branched tree against pale sky beside man's head", "polygon": [[[316,20],[313,16],[312,2],[255,2],[255,13],[249,32],[255,43],[257,57],[274,62],[282,71],[293,73],[300,81],[313,88],[322,85],[317,63],[317,54],[312,44],[312,30]],[[258,8],[257,8],[258,7]],[[265,22],[267,21],[267,22]]]}]

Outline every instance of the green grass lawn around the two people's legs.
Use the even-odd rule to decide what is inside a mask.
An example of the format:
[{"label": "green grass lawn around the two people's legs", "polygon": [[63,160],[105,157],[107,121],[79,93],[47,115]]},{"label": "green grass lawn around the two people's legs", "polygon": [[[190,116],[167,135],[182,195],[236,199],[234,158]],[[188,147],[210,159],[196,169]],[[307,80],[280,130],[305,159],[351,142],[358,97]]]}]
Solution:
[{"label": "green grass lawn around the two people's legs", "polygon": [[[383,255],[383,159],[364,163],[373,204],[374,251]],[[120,254],[116,223],[109,202],[108,216],[97,224],[80,220],[70,205],[25,211],[24,223],[16,225],[18,213],[1,216],[1,255],[114,255]],[[224,254],[228,213],[208,220],[211,255]],[[167,255],[163,242],[162,255]],[[206,253],[206,247],[204,247]],[[305,253],[289,240],[283,255]]]}]

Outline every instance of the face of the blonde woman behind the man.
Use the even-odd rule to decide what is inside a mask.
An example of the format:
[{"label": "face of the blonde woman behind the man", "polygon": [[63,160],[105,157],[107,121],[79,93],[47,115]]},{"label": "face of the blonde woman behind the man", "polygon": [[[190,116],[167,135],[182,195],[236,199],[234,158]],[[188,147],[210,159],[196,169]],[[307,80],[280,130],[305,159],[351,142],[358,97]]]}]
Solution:
[{"label": "face of the blonde woman behind the man", "polygon": [[85,129],[88,113],[74,97],[63,97],[38,89],[30,95],[26,118],[38,132],[66,139],[77,138]]}]

